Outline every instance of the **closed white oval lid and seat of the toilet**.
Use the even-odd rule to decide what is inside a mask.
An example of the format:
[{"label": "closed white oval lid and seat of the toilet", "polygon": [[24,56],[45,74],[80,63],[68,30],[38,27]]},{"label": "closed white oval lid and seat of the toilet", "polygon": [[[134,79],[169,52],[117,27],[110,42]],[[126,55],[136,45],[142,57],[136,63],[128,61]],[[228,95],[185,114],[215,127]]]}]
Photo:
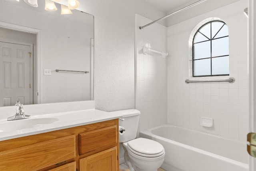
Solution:
[{"label": "closed white oval lid and seat of the toilet", "polygon": [[164,154],[164,147],[160,143],[146,138],[128,141],[128,148],[133,153],[144,157],[158,157]]}]

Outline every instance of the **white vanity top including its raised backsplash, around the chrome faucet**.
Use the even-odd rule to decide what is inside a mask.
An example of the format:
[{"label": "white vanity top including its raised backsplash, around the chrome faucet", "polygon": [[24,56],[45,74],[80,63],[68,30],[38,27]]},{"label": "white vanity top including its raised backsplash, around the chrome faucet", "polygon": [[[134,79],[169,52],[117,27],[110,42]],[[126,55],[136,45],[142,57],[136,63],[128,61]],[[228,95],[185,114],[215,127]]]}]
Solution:
[{"label": "white vanity top including its raised backsplash, around the chrome faucet", "polygon": [[[26,115],[31,115],[30,120],[35,119],[39,123],[33,124],[31,122],[29,123],[30,127],[28,119],[7,121],[7,117],[16,113],[16,106],[0,107],[0,125],[6,125],[0,127],[0,141],[88,125],[122,116],[119,113],[108,113],[95,109],[94,101],[24,105],[24,112]],[[41,120],[46,121],[46,123],[41,123]],[[8,130],[8,123],[10,125],[17,123],[18,128],[14,130],[10,127]],[[24,124],[24,128],[21,126],[22,124]]]}]

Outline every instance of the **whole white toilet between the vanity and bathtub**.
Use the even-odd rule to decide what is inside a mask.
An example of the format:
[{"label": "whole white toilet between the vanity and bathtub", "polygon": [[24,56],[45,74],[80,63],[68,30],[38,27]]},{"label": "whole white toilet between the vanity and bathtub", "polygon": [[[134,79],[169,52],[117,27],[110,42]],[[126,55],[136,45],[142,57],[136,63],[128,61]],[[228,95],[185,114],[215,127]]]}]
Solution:
[{"label": "whole white toilet between the vanity and bathtub", "polygon": [[[157,171],[164,162],[164,147],[151,139],[137,138],[140,111],[128,109],[120,112],[119,142],[124,147],[124,161],[130,171]],[[122,132],[122,129],[125,129]]]}]

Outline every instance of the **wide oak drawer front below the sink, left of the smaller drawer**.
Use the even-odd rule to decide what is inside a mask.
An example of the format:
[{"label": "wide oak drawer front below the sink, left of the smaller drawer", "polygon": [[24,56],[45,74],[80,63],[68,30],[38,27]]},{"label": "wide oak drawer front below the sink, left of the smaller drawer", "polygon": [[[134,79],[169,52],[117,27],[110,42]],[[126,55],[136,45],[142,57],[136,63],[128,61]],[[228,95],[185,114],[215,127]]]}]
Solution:
[{"label": "wide oak drawer front below the sink, left of the smaller drawer", "polygon": [[76,158],[76,136],[0,152],[1,171],[35,171]]}]

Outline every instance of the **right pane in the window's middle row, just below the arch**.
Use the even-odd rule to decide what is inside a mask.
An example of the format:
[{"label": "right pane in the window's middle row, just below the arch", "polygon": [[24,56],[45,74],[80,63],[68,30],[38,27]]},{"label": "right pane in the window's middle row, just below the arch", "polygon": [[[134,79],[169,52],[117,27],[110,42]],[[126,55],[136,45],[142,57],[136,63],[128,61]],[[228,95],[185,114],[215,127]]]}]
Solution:
[{"label": "right pane in the window's middle row, just below the arch", "polygon": [[228,37],[212,40],[212,57],[229,55]]}]

